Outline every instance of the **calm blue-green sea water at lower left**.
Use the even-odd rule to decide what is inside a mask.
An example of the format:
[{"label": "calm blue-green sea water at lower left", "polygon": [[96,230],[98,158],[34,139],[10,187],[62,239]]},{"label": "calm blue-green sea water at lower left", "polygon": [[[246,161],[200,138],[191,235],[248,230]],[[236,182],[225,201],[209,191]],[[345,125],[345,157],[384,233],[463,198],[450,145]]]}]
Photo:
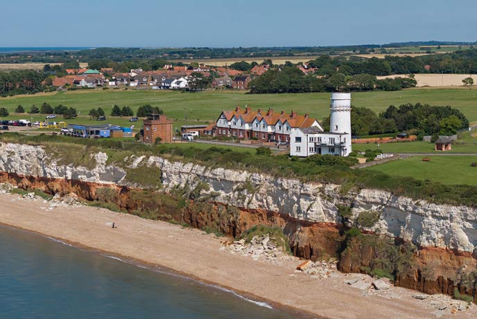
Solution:
[{"label": "calm blue-green sea water at lower left", "polygon": [[293,317],[191,279],[0,225],[0,318]]}]

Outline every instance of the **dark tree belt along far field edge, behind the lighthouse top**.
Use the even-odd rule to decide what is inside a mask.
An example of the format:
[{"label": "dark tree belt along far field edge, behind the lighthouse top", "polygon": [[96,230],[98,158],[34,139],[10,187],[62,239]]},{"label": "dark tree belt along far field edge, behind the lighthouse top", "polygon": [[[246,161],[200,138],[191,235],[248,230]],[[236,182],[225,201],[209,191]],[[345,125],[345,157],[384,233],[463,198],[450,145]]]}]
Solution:
[{"label": "dark tree belt along far field edge, behind the lighthouse top", "polygon": [[405,87],[415,87],[415,79],[385,78],[377,80],[370,74],[346,76],[336,73],[331,76],[305,75],[295,67],[269,69],[262,76],[254,78],[249,83],[250,93],[302,93],[302,92],[332,92],[332,91],[370,91],[383,89],[397,91]]}]

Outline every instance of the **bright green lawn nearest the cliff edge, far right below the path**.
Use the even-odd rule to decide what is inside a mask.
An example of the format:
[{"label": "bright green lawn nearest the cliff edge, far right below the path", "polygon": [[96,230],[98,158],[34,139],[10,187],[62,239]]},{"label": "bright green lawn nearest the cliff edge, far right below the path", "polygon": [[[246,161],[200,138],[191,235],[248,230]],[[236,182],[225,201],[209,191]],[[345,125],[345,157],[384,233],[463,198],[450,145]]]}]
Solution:
[{"label": "bright green lawn nearest the cliff edge, far right below the path", "polygon": [[423,162],[422,156],[414,156],[367,169],[444,184],[477,185],[477,167],[470,166],[472,162],[477,162],[477,156],[431,156],[431,162]]}]

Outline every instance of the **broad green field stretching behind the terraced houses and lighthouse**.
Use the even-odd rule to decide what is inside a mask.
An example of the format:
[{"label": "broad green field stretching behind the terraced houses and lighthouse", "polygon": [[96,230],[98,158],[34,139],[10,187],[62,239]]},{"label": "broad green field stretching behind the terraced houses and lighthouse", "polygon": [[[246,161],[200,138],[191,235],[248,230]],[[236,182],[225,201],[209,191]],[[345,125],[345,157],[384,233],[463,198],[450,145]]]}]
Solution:
[{"label": "broad green field stretching behind the terraced houses and lighthouse", "polygon": [[[86,116],[92,107],[103,107],[106,115],[111,112],[112,105],[129,105],[133,110],[144,104],[157,105],[165,114],[176,121],[175,126],[184,123],[184,110],[187,110],[187,123],[206,123],[216,121],[221,110],[232,110],[236,105],[245,104],[252,108],[268,109],[276,112],[296,110],[309,113],[312,117],[329,116],[330,93],[306,94],[245,94],[244,92],[197,92],[180,93],[154,91],[150,89],[95,89],[58,92],[51,95],[37,94],[32,96],[11,96],[0,98],[0,107],[6,107],[10,113],[19,104],[29,110],[32,104],[51,105],[60,103],[68,107],[76,107],[80,111],[80,119],[76,123],[90,123]],[[389,105],[404,103],[428,103],[431,105],[452,105],[462,110],[469,121],[477,121],[477,90],[474,89],[406,89],[397,92],[356,92],[352,94],[355,106],[370,107],[376,112],[385,110]],[[29,114],[10,114],[10,119],[29,117]],[[107,123],[129,125],[127,119],[110,120]]]}]

